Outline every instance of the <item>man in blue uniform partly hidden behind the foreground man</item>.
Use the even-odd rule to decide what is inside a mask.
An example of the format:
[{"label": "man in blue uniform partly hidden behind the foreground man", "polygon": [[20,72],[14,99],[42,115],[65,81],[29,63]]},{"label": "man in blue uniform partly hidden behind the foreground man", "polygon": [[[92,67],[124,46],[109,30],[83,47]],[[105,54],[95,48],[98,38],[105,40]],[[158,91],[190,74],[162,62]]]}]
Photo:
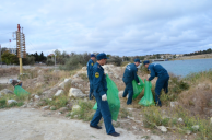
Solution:
[{"label": "man in blue uniform partly hidden behind the foreground man", "polygon": [[89,62],[87,62],[87,77],[89,77],[89,80],[90,80],[90,100],[92,100],[93,98],[93,82],[92,82],[92,80],[93,80],[93,78],[92,78],[92,75],[93,75],[93,66],[94,66],[94,61],[95,61],[95,59],[96,59],[96,56],[94,55],[94,54],[92,54],[91,55],[91,59],[89,60]]}]

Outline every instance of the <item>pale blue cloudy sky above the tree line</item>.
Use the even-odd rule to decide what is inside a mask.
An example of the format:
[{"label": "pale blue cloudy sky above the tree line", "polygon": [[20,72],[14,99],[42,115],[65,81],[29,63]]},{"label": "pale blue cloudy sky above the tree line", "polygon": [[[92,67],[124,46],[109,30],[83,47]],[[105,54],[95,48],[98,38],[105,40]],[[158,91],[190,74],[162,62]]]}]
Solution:
[{"label": "pale blue cloudy sky above the tree line", "polygon": [[[212,48],[212,0],[0,0],[0,44],[26,51],[118,56]],[[9,42],[12,39],[12,42]]]}]

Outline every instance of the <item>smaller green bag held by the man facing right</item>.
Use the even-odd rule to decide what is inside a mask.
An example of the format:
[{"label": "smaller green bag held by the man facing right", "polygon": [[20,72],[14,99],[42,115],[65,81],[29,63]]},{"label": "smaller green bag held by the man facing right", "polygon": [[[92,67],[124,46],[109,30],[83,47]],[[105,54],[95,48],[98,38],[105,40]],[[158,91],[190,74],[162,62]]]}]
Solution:
[{"label": "smaller green bag held by the man facing right", "polygon": [[143,86],[144,86],[144,83],[141,80],[141,78],[139,78],[139,82],[140,82],[140,85],[138,85],[136,80],[132,81],[132,86],[133,86],[133,96],[132,96],[132,98],[133,100],[137,98],[137,96],[142,92]]}]

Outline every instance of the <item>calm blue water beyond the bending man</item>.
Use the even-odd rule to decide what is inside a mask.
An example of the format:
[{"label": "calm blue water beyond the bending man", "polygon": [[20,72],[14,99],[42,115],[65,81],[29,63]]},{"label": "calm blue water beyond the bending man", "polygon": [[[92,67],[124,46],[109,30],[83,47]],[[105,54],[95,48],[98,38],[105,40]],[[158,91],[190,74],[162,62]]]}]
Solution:
[{"label": "calm blue water beyond the bending man", "polygon": [[192,72],[200,72],[212,69],[212,59],[192,59],[175,61],[156,61],[162,65],[168,72],[175,75],[186,77]]}]

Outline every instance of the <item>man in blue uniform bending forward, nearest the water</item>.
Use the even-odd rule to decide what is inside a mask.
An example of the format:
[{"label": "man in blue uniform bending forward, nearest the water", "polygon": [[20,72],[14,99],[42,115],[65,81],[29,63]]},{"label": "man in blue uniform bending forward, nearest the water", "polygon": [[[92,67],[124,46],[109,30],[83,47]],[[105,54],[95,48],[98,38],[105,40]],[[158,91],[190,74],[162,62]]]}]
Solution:
[{"label": "man in blue uniform bending forward, nearest the water", "polygon": [[158,63],[150,65],[149,60],[143,61],[143,65],[151,72],[148,81],[151,81],[155,77],[158,77],[156,81],[156,86],[155,86],[155,102],[156,102],[156,105],[161,107],[162,103],[160,101],[160,95],[161,95],[162,89],[164,89],[164,92],[166,94],[168,93],[168,80],[169,80],[168,72]]}]

